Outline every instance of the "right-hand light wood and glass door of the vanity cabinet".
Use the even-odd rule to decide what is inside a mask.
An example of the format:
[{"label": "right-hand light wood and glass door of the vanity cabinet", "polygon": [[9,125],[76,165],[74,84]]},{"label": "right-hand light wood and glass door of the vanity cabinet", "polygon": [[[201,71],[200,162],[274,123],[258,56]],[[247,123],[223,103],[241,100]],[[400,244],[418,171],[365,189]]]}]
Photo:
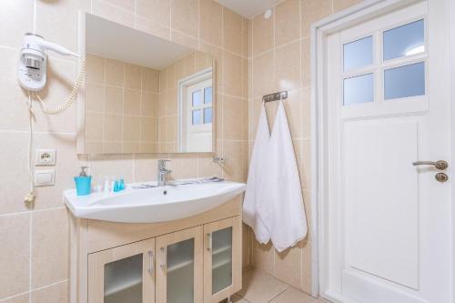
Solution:
[{"label": "right-hand light wood and glass door of the vanity cabinet", "polygon": [[240,217],[204,226],[204,302],[217,303],[242,284]]}]

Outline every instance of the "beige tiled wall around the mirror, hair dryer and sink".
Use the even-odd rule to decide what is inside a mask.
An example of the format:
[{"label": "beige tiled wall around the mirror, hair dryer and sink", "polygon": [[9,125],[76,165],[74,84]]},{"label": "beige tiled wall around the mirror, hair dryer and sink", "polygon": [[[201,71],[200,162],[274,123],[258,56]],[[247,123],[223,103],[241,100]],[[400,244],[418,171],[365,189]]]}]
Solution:
[{"label": "beige tiled wall around the mirror, hair dryer and sink", "polygon": [[[217,60],[217,154],[76,156],[76,107],[45,116],[35,104],[35,148],[56,147],[56,186],[37,188],[35,207],[23,202],[27,171],[27,94],[17,84],[23,35],[33,31],[76,51],[77,12],[82,9],[194,47]],[[0,301],[66,302],[68,298],[68,213],[62,192],[73,187],[78,166],[88,164],[97,180],[154,179],[158,157],[172,159],[173,177],[218,175],[245,181],[248,170],[248,20],[212,0],[15,0],[0,9]],[[49,52],[48,86],[40,96],[54,107],[66,99],[76,78],[76,61]],[[246,237],[248,239],[248,237]],[[248,248],[248,243],[246,246]],[[248,249],[245,254],[248,260]]]}]

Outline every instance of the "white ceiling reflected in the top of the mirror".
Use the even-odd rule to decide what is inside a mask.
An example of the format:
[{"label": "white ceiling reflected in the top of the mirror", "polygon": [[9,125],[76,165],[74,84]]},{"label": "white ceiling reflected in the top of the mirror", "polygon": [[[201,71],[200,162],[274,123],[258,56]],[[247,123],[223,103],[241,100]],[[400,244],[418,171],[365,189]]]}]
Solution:
[{"label": "white ceiling reflected in the top of the mirror", "polygon": [[161,69],[193,50],[86,14],[86,52],[137,66]]}]

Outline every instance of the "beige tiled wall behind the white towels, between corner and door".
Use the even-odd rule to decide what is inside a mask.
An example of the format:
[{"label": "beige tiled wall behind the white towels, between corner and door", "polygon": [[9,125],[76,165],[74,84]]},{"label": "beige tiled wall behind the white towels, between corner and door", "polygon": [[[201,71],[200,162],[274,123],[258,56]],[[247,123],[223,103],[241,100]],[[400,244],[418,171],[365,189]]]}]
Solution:
[{"label": "beige tiled wall behind the white towels, between corner and door", "polygon": [[[357,3],[359,0],[285,0],[274,7],[271,18],[258,15],[250,21],[249,149],[256,134],[261,96],[288,90],[284,105],[298,159],[308,226],[311,217],[309,25]],[[277,102],[267,105],[270,126],[277,105]],[[252,242],[254,266],[296,288],[311,291],[311,235],[282,253],[270,244]]]}]

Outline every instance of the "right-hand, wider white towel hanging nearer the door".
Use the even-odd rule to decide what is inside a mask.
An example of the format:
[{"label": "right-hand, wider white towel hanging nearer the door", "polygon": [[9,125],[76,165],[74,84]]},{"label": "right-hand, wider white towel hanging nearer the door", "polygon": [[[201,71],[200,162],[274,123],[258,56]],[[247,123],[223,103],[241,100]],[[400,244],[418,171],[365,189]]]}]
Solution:
[{"label": "right-hand, wider white towel hanging nearer the door", "polygon": [[270,136],[267,164],[267,174],[258,188],[258,214],[280,252],[296,245],[308,232],[298,164],[282,101]]}]

